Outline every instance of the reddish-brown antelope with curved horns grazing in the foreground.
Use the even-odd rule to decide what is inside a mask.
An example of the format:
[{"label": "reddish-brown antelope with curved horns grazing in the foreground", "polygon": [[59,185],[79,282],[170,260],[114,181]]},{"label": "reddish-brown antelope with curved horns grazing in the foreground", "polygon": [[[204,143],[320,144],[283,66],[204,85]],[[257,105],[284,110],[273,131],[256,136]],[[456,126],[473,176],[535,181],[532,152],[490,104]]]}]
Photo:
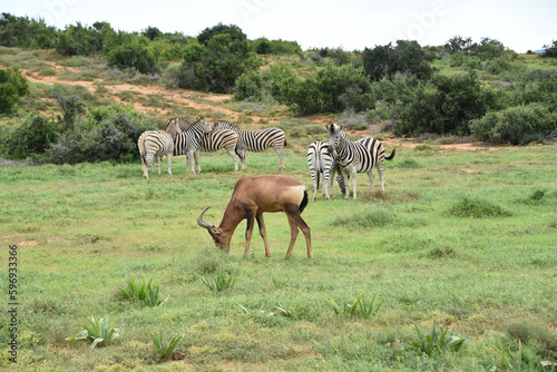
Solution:
[{"label": "reddish-brown antelope with curved horns grazing in the foreground", "polygon": [[265,244],[265,256],[271,256],[268,248],[267,234],[263,213],[284,212],[289,217],[291,239],[286,258],[292,254],[294,243],[296,242],[299,228],[305,236],[307,246],[307,258],[313,257],[310,226],[302,219],[301,213],[307,205],[307,190],[305,186],[297,180],[286,176],[258,176],[241,178],[234,187],[231,202],[224,212],[223,221],[219,226],[215,226],[203,221],[203,215],[211,207],[206,207],[197,217],[197,224],[206,228],[215,241],[215,245],[226,252],[229,251],[231,239],[236,226],[245,218],[246,244],[244,256],[250,254],[250,244],[252,241],[253,226],[255,221],[260,227],[260,234]]}]

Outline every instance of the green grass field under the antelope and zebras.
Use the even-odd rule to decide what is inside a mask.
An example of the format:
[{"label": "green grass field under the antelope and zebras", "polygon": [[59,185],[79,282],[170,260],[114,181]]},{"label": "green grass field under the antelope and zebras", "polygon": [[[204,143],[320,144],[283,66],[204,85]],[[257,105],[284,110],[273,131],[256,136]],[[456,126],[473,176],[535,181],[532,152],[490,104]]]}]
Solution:
[{"label": "green grass field under the antelope and zebras", "polygon": [[[390,150],[388,150],[390,151]],[[203,155],[202,174],[173,159],[174,176],[141,178],[139,164],[0,167],[2,303],[9,246],[18,248],[18,363],[0,323],[2,370],[37,371],[550,371],[557,362],[556,146],[440,151],[399,148],[385,161],[387,193],[359,198],[338,185],[303,213],[285,261],[284,214],[265,216],[272,257],[257,231],[244,258],[245,222],[229,255],[196,224],[218,224],[241,176],[273,174],[274,151]],[[284,173],[307,186],[305,150]],[[215,293],[202,277],[234,276]],[[153,280],[166,304],[125,300],[119,287]],[[377,313],[343,311],[360,294]],[[333,304],[336,304],[339,313]],[[375,303],[377,304],[377,303]],[[2,306],[2,309],[6,309]],[[88,319],[110,315],[120,337],[105,347],[70,343]],[[2,317],[9,320],[8,316]],[[459,351],[412,346],[432,325],[466,339]],[[176,361],[160,361],[152,333],[184,334]],[[545,363],[546,366],[541,366]],[[557,368],[553,365],[553,369]]]}]

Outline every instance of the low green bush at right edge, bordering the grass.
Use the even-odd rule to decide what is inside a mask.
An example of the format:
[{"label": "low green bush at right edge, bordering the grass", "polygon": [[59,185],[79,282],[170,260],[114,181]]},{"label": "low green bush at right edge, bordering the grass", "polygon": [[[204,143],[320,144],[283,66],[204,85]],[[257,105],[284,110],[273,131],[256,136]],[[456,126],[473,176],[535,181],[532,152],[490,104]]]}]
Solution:
[{"label": "low green bush at right edge, bordering the grass", "polygon": [[509,107],[472,120],[470,130],[477,140],[490,144],[544,141],[557,130],[557,114],[540,104]]}]

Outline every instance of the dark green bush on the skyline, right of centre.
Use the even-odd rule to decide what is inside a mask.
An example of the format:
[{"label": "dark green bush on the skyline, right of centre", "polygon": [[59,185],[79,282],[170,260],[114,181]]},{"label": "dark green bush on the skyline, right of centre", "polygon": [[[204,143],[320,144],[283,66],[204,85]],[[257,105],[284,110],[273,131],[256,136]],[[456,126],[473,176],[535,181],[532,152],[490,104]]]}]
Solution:
[{"label": "dark green bush on the skyline, right of centre", "polygon": [[422,49],[417,41],[398,40],[391,43],[365,48],[362,53],[363,68],[372,80],[382,77],[392,78],[397,72],[416,75],[419,79],[429,79],[433,72],[428,61],[432,56]]}]

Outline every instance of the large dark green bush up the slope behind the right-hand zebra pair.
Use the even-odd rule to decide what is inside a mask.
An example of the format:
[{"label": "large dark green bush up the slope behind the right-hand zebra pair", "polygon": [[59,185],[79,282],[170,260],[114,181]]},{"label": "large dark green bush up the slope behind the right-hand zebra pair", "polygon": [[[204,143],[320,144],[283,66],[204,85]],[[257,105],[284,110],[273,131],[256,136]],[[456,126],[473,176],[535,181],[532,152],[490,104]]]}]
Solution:
[{"label": "large dark green bush up the slope behind the right-hand zebra pair", "polygon": [[481,118],[495,101],[473,74],[436,76],[431,82],[432,87],[419,90],[401,114],[393,127],[397,136],[469,135],[469,120]]}]

